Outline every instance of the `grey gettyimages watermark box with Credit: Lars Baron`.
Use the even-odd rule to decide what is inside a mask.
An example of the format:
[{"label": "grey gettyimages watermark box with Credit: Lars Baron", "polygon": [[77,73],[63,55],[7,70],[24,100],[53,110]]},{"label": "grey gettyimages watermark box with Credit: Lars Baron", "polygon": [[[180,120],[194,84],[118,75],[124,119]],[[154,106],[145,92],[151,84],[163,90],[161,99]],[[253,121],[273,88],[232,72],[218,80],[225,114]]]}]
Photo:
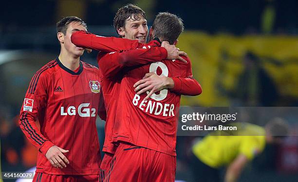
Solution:
[{"label": "grey gettyimages watermark box with Credit: Lars Baron", "polygon": [[293,122],[291,135],[298,135],[298,107],[183,106],[179,110],[177,136],[260,135],[258,131],[247,132],[247,126],[254,125],[257,130],[256,126],[264,128],[276,118]]}]

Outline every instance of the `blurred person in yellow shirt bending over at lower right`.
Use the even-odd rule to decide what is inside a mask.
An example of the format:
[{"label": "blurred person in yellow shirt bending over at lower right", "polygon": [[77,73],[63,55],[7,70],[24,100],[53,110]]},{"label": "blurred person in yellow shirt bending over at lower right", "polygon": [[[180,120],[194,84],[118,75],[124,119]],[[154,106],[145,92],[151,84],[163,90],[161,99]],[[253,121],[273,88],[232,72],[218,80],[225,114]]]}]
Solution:
[{"label": "blurred person in yellow shirt bending over at lower right", "polygon": [[220,182],[222,166],[227,167],[224,182],[236,182],[243,167],[263,151],[266,143],[280,143],[289,130],[281,118],[269,121],[264,128],[249,123],[232,125],[237,131],[228,136],[212,132],[193,145],[191,168],[196,182]]}]

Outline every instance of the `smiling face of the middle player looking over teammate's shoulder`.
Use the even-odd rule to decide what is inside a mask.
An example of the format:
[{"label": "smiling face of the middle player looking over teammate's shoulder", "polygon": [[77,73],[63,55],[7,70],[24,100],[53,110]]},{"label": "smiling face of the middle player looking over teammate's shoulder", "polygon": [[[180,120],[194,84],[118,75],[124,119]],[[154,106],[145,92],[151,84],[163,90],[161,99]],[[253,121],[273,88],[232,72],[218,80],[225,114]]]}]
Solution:
[{"label": "smiling face of the middle player looking over teammate's shoulder", "polygon": [[147,20],[139,15],[140,18],[127,18],[125,27],[118,29],[119,35],[130,40],[138,40],[139,43],[146,43],[148,36]]}]

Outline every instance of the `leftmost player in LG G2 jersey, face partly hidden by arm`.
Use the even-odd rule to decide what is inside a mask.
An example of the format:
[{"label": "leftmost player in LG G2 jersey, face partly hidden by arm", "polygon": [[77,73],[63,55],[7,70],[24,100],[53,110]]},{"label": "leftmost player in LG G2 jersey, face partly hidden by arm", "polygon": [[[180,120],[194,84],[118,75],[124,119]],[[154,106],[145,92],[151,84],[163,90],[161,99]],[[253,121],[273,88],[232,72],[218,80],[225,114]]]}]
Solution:
[{"label": "leftmost player in LG G2 jersey, face partly hidden by arm", "polygon": [[34,182],[99,181],[102,92],[98,68],[80,61],[84,49],[71,42],[81,30],[87,26],[78,17],[57,22],[60,54],[33,76],[20,111],[20,128],[39,149]]}]

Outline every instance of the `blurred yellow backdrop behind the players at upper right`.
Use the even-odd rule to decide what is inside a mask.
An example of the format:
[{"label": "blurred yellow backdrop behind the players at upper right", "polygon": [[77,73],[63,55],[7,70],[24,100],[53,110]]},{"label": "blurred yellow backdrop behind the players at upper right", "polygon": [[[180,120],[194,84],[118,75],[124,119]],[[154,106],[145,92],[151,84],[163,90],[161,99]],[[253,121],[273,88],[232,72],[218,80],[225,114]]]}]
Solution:
[{"label": "blurred yellow backdrop behind the players at upper right", "polygon": [[[188,54],[193,75],[203,88],[201,97],[183,96],[182,105],[228,106],[228,99],[218,92],[216,83],[221,79],[226,89],[233,89],[243,70],[242,60],[247,51],[260,58],[261,67],[273,79],[281,96],[298,97],[297,37],[186,31],[180,35],[177,47]],[[225,66],[222,74],[221,62]]]}]

